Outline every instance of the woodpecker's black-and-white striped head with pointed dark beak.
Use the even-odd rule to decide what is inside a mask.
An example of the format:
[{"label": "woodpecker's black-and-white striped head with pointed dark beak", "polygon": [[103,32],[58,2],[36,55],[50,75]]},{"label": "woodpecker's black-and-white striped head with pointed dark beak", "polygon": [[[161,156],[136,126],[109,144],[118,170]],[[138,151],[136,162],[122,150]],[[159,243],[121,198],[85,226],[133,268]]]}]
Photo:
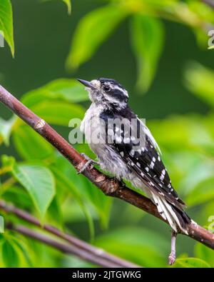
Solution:
[{"label": "woodpecker's black-and-white striped head with pointed dark beak", "polygon": [[86,86],[89,98],[93,103],[105,103],[106,106],[118,108],[123,108],[128,103],[128,92],[114,79],[101,78],[92,81],[78,79],[78,81]]}]

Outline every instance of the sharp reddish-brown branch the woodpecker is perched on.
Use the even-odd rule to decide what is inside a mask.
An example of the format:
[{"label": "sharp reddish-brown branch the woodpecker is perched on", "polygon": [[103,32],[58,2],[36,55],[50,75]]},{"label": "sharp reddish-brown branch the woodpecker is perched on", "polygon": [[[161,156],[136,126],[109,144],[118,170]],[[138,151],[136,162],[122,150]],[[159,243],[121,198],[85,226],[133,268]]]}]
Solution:
[{"label": "sharp reddish-brown branch the woodpecker is perched on", "polygon": [[[40,119],[36,114],[30,111],[26,106],[21,104],[14,96],[12,96],[4,87],[0,86],[0,101],[6,105],[11,111],[19,116],[26,124],[29,124],[36,132],[51,143],[65,158],[75,166],[77,171],[80,171],[86,163],[83,158],[62,136],[60,136],[54,129]],[[86,176],[92,183],[106,194],[115,198],[121,198],[123,201],[131,203],[133,206],[141,208],[143,211],[151,213],[157,218],[161,218],[156,206],[139,193],[132,191],[128,187],[121,186],[118,181],[104,175],[93,166],[89,166],[83,175]],[[165,221],[166,222],[166,221]],[[188,226],[188,233],[191,238],[203,243],[205,246],[214,249],[214,234],[205,230],[205,228],[198,226],[196,223],[190,223]]]}]

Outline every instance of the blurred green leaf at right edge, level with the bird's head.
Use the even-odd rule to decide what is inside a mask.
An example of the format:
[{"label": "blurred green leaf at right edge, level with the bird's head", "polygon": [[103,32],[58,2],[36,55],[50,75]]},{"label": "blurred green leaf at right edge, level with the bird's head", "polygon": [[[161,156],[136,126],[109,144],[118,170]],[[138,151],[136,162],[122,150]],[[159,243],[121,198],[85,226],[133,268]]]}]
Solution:
[{"label": "blurred green leaf at right edge, level with the bird's head", "polygon": [[185,69],[185,86],[208,105],[214,106],[214,71],[196,62]]}]

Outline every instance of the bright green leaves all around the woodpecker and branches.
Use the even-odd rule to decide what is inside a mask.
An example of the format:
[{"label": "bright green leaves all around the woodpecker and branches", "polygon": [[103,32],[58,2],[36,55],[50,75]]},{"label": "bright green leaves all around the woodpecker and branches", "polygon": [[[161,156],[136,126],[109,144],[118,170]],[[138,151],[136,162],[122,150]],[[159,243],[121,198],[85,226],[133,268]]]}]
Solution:
[{"label": "bright green leaves all around the woodpecker and branches", "polygon": [[[68,5],[70,12],[71,2],[63,2]],[[99,1],[101,6],[80,19],[66,66],[74,70],[90,60],[118,24],[126,20],[138,67],[138,87],[144,92],[149,89],[156,75],[167,21],[188,26],[200,46],[205,46],[208,41],[203,27],[214,21],[213,10],[196,0],[111,0],[105,2],[106,6],[103,3]],[[0,29],[4,30],[5,39],[14,54],[12,26],[10,1],[2,0]],[[161,146],[163,161],[173,185],[189,207],[188,213],[208,228],[214,203],[214,72],[192,62],[186,66],[183,74],[186,89],[201,103],[205,103],[208,111],[203,115],[177,114],[150,121],[148,126]],[[65,127],[72,118],[82,119],[88,96],[74,79],[56,79],[28,91],[21,101],[68,136]],[[81,226],[84,239],[91,239],[96,246],[139,265],[167,266],[170,233],[164,236],[156,232],[156,225],[161,223],[149,217],[149,226],[145,213],[126,204],[119,209],[116,207],[118,201],[112,208],[111,198],[104,196],[83,176],[77,176],[66,159],[16,116],[8,120],[1,116],[0,144],[0,196],[5,201],[28,210],[42,223],[51,223],[62,230],[79,234],[78,228]],[[75,146],[78,151],[93,157],[87,145]],[[6,148],[12,150],[13,156],[6,156]],[[17,218],[3,215],[6,220],[18,221]],[[113,219],[116,216],[120,218],[121,226],[115,228]],[[129,220],[138,227],[128,224]],[[142,227],[144,223],[147,225]],[[24,236],[14,236],[10,231],[1,234],[0,250],[0,266],[88,266],[88,263],[63,256]],[[214,267],[213,251],[200,243],[195,243],[190,256],[182,253],[174,267]]]}]

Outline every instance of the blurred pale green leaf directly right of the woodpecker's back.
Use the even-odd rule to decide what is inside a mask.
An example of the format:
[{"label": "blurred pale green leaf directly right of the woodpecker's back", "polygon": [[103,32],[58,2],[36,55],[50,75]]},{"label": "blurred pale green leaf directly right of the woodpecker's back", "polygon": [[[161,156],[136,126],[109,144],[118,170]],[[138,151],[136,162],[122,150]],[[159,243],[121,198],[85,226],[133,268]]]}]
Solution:
[{"label": "blurred pale green leaf directly right of the woodpecker's back", "polygon": [[[203,116],[192,114],[189,116],[171,116],[170,119],[152,121],[149,127],[153,135],[158,138],[161,146],[172,151],[183,151],[183,149],[205,151],[214,153],[213,146],[213,116],[205,119]],[[168,132],[168,134],[163,134]],[[182,143],[182,146],[180,146]]]}]

